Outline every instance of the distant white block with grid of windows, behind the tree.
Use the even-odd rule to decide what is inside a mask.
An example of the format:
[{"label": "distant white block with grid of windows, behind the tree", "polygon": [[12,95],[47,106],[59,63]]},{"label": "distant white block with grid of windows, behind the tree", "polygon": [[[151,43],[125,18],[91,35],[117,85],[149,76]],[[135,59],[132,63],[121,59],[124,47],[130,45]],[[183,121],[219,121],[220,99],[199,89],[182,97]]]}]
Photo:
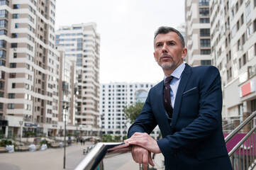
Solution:
[{"label": "distant white block with grid of windows, behind the tree", "polygon": [[[152,83],[109,83],[101,84],[100,113],[103,134],[127,135],[130,123],[126,120],[123,108],[140,101],[145,102]],[[155,128],[152,136],[155,139],[160,133]]]}]

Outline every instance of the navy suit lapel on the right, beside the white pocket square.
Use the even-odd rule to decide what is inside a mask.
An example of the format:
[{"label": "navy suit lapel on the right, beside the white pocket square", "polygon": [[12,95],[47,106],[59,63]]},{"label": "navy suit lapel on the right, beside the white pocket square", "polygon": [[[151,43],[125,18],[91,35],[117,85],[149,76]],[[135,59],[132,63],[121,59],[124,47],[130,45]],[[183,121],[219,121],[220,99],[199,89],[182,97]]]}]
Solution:
[{"label": "navy suit lapel on the right, beside the white pocket square", "polygon": [[179,115],[179,108],[182,102],[182,94],[185,90],[185,87],[187,86],[187,82],[189,81],[190,75],[191,75],[191,67],[188,64],[186,64],[186,67],[182,72],[182,79],[179,81],[179,87],[178,87],[176,98],[175,98],[174,109],[172,113],[172,127],[171,127],[172,132],[174,130],[174,126]]}]

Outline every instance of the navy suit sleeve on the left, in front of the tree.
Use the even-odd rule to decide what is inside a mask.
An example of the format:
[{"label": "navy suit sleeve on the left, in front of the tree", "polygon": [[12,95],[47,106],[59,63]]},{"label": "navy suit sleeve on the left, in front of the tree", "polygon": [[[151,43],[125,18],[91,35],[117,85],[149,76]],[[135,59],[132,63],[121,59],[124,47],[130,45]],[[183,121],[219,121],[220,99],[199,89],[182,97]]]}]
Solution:
[{"label": "navy suit sleeve on the left, in front of the tree", "polygon": [[148,134],[150,134],[157,125],[155,117],[152,113],[150,94],[151,89],[148,93],[148,97],[143,106],[143,110],[141,111],[141,113],[138,115],[138,118],[136,118],[135,122],[133,123],[133,125],[130,126],[128,130],[128,138],[131,137],[135,132],[147,132]]}]

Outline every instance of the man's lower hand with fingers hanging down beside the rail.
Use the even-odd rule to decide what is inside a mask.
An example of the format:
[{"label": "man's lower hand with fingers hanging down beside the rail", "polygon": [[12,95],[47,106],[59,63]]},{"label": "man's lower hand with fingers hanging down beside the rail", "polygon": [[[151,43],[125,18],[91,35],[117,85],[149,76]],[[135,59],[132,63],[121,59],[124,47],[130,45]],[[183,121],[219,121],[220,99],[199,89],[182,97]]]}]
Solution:
[{"label": "man's lower hand with fingers hanging down beside the rail", "polygon": [[148,164],[155,166],[152,161],[151,152],[148,152],[147,149],[138,145],[133,145],[131,152],[133,160],[138,164],[143,164],[144,170],[148,170]]}]

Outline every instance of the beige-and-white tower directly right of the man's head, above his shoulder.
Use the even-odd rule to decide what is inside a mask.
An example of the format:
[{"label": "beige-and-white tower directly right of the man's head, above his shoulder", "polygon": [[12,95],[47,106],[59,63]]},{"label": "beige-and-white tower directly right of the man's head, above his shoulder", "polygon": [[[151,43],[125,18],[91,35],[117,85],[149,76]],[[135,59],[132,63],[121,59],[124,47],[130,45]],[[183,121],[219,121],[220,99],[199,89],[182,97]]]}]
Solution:
[{"label": "beige-and-white tower directly right of the man's head, above his shoulder", "polygon": [[208,0],[185,0],[186,62],[191,66],[211,64],[210,12]]}]

